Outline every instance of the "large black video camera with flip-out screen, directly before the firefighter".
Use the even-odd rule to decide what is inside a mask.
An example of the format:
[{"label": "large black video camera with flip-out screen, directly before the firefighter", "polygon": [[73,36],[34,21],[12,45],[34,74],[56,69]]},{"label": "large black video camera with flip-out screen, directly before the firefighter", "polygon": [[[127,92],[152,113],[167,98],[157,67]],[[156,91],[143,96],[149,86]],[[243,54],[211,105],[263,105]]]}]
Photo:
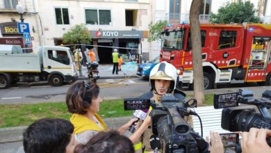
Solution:
[{"label": "large black video camera with flip-out screen, directly before the firefighter", "polygon": [[[124,99],[124,108],[146,108],[147,100]],[[129,106],[127,106],[129,104]],[[161,104],[150,102],[152,131],[158,135],[163,152],[207,152],[208,143],[184,120],[184,116],[197,115],[190,108],[197,106],[196,99],[179,102],[176,97],[165,94]],[[133,107],[134,106],[134,107]],[[127,110],[127,109],[126,109]],[[154,148],[153,148],[154,149]],[[160,148],[158,148],[160,149]]]}]

